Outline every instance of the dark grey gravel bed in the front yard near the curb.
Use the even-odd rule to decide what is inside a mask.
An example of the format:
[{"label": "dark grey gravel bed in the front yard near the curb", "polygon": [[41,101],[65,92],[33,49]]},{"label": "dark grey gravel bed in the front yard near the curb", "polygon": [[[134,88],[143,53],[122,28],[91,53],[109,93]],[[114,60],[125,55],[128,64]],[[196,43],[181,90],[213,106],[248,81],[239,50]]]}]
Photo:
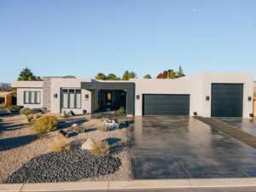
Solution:
[{"label": "dark grey gravel bed in the front yard near the curb", "polygon": [[119,158],[94,157],[88,150],[42,154],[32,158],[4,183],[73,182],[84,177],[99,177],[119,170]]}]

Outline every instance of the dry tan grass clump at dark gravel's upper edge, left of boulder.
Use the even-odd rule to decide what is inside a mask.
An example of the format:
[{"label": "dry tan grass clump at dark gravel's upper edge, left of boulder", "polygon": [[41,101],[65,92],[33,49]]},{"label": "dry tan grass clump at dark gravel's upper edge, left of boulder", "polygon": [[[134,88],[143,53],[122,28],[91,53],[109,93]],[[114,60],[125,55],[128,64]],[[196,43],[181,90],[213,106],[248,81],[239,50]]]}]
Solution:
[{"label": "dry tan grass clump at dark gravel's upper edge, left of boulder", "polygon": [[58,133],[55,137],[54,143],[52,143],[50,147],[51,152],[60,152],[65,150],[70,150],[72,148],[72,145],[68,143],[67,138],[61,135],[61,133]]}]

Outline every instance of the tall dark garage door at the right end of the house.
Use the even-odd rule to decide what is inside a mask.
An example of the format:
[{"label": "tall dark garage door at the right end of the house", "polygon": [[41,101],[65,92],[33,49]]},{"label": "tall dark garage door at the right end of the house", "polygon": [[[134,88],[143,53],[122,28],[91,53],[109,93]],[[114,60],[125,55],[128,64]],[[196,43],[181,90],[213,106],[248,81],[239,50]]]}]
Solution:
[{"label": "tall dark garage door at the right end of the house", "polygon": [[212,84],[212,117],[242,116],[243,84]]}]

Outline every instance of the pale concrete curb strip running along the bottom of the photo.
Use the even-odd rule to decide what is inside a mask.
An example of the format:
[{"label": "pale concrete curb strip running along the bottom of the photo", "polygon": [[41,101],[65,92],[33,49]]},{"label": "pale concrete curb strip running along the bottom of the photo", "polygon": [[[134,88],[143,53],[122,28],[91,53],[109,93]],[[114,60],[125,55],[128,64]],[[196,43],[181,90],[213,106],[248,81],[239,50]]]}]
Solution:
[{"label": "pale concrete curb strip running along the bottom of the photo", "polygon": [[109,189],[177,189],[256,187],[256,177],[250,178],[201,178],[201,179],[152,179],[110,182],[25,183],[0,184],[0,192],[67,191]]}]

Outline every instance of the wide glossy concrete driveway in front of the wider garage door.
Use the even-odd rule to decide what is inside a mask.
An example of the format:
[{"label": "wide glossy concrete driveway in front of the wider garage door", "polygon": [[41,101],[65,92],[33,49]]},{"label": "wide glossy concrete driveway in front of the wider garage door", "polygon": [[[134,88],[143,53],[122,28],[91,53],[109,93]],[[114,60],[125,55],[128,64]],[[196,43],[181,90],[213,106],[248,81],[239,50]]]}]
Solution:
[{"label": "wide glossy concrete driveway in front of the wider garage door", "polygon": [[135,117],[133,178],[256,177],[256,149],[193,117]]}]

